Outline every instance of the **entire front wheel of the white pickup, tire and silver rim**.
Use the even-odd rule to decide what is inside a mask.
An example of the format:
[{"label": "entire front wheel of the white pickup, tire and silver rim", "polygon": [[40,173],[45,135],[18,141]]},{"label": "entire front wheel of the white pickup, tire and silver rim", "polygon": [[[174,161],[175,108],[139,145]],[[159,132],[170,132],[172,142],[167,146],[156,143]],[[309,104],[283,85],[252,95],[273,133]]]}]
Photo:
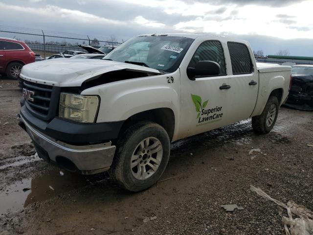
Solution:
[{"label": "entire front wheel of the white pickup, tire and silver rim", "polygon": [[141,191],[156,183],[169,156],[170,140],[164,128],[154,122],[138,122],[118,141],[110,175],[123,188]]}]

